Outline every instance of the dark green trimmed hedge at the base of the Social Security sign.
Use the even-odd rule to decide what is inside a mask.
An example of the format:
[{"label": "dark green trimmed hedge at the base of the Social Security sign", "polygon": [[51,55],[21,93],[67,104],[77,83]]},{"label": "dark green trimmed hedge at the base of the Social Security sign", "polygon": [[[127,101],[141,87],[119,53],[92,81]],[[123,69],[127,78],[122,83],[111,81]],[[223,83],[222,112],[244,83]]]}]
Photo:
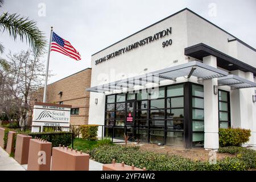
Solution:
[{"label": "dark green trimmed hedge at the base of the Social Security sign", "polygon": [[72,143],[72,133],[66,131],[30,133],[28,135],[32,138],[38,137],[46,139],[48,142],[52,143],[52,147],[57,147],[59,144],[61,144],[61,146],[69,146]]}]

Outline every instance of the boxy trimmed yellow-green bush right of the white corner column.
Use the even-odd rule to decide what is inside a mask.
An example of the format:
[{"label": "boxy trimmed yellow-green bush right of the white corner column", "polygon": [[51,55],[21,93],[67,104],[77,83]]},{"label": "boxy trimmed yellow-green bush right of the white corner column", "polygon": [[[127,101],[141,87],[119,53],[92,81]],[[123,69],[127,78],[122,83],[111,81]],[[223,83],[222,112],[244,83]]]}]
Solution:
[{"label": "boxy trimmed yellow-green bush right of the white corner column", "polygon": [[242,143],[249,141],[251,131],[246,129],[230,128],[219,129],[218,134],[220,147],[241,146]]}]

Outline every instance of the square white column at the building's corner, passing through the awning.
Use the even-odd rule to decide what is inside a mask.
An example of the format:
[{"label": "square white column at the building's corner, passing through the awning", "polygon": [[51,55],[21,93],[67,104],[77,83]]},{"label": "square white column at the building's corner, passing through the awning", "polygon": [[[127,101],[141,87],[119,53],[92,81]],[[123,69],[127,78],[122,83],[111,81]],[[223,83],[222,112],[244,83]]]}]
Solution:
[{"label": "square white column at the building's corner, passing through the awning", "polygon": [[[214,56],[203,57],[203,63],[217,68]],[[218,85],[217,78],[204,80],[204,148],[218,149],[218,94],[214,94],[213,86]]]}]

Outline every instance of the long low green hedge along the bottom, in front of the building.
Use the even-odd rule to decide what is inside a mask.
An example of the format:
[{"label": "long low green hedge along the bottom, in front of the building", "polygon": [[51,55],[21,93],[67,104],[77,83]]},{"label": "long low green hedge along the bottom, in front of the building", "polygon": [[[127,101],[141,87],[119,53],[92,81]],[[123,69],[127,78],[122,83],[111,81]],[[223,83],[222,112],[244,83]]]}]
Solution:
[{"label": "long low green hedge along the bottom, in front of the building", "polygon": [[217,164],[195,161],[179,155],[159,154],[152,151],[142,151],[139,147],[100,146],[89,151],[90,156],[100,163],[125,162],[127,165],[154,171],[242,171],[253,166],[247,165],[245,158],[226,157],[217,160]]}]

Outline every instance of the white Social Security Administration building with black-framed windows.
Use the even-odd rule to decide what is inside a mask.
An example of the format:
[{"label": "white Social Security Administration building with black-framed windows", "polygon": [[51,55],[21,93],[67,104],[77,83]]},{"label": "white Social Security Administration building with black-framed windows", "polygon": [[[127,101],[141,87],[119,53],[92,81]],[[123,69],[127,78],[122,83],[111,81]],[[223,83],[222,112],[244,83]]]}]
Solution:
[{"label": "white Social Security Administration building with black-framed windows", "polygon": [[183,9],[92,55],[89,124],[105,136],[218,148],[219,127],[251,130],[256,50]]}]

